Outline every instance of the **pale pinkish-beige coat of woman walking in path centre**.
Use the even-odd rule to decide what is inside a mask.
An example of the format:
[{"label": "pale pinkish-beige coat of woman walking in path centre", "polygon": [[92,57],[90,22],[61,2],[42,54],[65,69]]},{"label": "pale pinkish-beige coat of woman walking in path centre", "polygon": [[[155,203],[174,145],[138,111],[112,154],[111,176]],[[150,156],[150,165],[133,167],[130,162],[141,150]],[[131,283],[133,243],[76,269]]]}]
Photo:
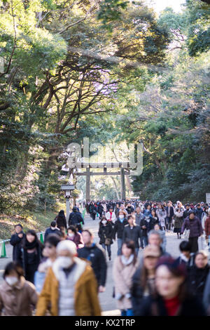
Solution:
[{"label": "pale pinkish-beige coat of woman walking in path centre", "polygon": [[118,256],[113,263],[113,280],[115,284],[115,296],[121,296],[117,300],[117,307],[120,310],[127,310],[132,308],[131,298],[126,297],[127,293],[130,294],[130,289],[132,287],[132,276],[139,267],[139,260],[136,263],[133,263],[131,260],[130,263],[125,265],[122,261],[122,256]]}]

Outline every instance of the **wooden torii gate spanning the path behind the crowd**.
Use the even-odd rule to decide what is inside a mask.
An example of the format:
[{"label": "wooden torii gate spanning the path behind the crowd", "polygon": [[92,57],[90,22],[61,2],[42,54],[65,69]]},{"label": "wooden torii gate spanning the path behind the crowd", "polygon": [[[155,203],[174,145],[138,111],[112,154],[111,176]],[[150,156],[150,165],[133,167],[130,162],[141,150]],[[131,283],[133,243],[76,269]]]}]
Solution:
[{"label": "wooden torii gate spanning the path behind the crowd", "polygon": [[[77,169],[86,169],[85,172],[76,172],[76,176],[86,176],[86,202],[90,201],[90,176],[120,176],[120,198],[125,199],[125,176],[130,175],[130,163],[76,163]],[[102,172],[92,172],[90,169],[103,169]],[[108,172],[107,169],[120,169],[116,172]]]}]

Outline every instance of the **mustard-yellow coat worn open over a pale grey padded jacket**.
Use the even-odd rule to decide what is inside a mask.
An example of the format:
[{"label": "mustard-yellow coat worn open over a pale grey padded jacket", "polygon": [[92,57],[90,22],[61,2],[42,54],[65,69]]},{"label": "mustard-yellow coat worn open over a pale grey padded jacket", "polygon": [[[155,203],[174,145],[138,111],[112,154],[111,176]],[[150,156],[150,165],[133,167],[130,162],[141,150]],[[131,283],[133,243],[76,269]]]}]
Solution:
[{"label": "mustard-yellow coat worn open over a pale grey padded jacket", "polygon": [[[74,309],[76,316],[100,316],[101,309],[97,296],[97,281],[90,265],[84,260],[75,258],[76,284],[74,287]],[[55,264],[48,270],[43,290],[38,298],[36,316],[44,316],[50,303],[50,314],[59,314],[59,279]]]}]

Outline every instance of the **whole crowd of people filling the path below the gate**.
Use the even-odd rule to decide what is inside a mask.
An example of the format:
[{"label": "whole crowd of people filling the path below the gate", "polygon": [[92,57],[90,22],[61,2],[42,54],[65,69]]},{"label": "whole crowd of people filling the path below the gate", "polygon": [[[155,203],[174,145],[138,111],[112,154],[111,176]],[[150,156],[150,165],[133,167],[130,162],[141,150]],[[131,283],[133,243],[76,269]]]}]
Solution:
[{"label": "whole crowd of people filling the path below the gate", "polygon": [[[106,290],[112,258],[110,299],[122,316],[210,315],[208,204],[130,200],[83,206],[92,220],[99,219],[99,244],[84,227],[78,206],[69,219],[59,211],[45,230],[44,244],[34,230],[25,233],[15,225],[13,262],[0,287],[3,315],[101,315],[99,294]],[[182,238],[179,258],[167,252],[167,232]],[[207,249],[199,250],[202,235]]]}]

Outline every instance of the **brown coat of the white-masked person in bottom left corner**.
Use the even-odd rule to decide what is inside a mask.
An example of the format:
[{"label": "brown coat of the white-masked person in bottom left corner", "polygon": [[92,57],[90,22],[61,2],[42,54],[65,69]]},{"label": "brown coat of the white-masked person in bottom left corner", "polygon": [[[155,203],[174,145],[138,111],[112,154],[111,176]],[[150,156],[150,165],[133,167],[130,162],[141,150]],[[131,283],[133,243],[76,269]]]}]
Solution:
[{"label": "brown coat of the white-masked person in bottom left corner", "polygon": [[0,315],[32,316],[31,305],[36,306],[38,295],[34,284],[20,277],[20,282],[10,286],[6,281],[0,286]]}]

